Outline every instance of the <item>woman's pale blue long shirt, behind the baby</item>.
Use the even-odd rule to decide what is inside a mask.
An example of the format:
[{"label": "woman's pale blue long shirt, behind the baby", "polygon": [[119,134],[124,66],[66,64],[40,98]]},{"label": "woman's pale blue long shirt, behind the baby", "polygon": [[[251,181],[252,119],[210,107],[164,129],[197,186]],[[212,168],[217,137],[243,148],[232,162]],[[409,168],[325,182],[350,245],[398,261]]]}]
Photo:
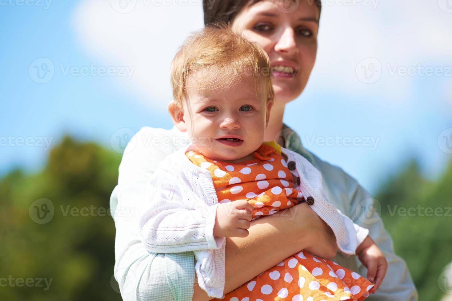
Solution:
[{"label": "woman's pale blue long shirt, behind the baby", "polygon": [[[305,157],[323,176],[325,198],[356,224],[369,229],[369,235],[383,251],[388,270],[377,293],[366,300],[418,300],[405,261],[394,254],[391,236],[371,196],[341,168],[320,160],[307,151],[300,137],[283,125],[283,146]],[[124,301],[191,301],[194,284],[193,252],[149,253],[138,230],[139,208],[145,201],[146,182],[164,157],[188,144],[188,136],[175,127],[171,130],[143,127],[129,141],[119,167],[118,185],[113,190],[110,208],[116,225],[114,275]],[[366,277],[367,270],[353,255],[341,252],[333,259],[338,264]]]}]

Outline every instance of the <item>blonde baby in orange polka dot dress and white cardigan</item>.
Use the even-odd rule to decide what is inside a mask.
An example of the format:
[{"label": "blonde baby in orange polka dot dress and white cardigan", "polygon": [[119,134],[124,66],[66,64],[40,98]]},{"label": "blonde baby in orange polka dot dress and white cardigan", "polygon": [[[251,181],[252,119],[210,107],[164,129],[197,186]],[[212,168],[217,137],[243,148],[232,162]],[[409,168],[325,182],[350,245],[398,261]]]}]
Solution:
[{"label": "blonde baby in orange polka dot dress and white cardigan", "polygon": [[331,227],[339,250],[358,254],[369,278],[386,272],[383,255],[367,229],[327,202],[309,161],[264,142],[275,96],[258,44],[227,28],[204,28],[174,57],[171,81],[168,108],[191,143],[166,157],[148,183],[139,225],[146,249],[193,251],[199,286],[228,301],[363,300],[375,290],[359,274],[301,250],[224,295],[225,237],[245,237],[253,219],[300,202]]}]

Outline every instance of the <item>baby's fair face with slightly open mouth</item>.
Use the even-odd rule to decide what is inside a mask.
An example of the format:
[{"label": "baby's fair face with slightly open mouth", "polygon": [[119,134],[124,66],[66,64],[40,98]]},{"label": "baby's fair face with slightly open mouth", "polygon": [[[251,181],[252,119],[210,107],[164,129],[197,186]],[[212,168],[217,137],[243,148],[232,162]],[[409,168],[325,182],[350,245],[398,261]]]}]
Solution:
[{"label": "baby's fair face with slightly open mouth", "polygon": [[[184,122],[193,145],[206,157],[226,162],[244,162],[264,142],[272,102],[264,87],[255,93],[254,81],[245,75],[235,86],[223,90],[196,88],[187,79],[183,101]],[[232,138],[232,139],[226,139]]]}]

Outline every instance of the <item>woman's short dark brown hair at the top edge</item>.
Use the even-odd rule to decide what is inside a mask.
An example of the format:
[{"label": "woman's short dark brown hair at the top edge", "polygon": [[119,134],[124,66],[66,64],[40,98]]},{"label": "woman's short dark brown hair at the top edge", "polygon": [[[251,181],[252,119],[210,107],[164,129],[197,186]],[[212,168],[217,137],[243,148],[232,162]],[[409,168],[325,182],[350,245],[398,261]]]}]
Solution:
[{"label": "woman's short dark brown hair at the top edge", "polygon": [[[210,26],[215,23],[230,24],[245,5],[254,5],[260,1],[261,0],[202,0],[204,25]],[[315,2],[320,12],[322,7],[321,0],[311,0],[311,2]]]}]

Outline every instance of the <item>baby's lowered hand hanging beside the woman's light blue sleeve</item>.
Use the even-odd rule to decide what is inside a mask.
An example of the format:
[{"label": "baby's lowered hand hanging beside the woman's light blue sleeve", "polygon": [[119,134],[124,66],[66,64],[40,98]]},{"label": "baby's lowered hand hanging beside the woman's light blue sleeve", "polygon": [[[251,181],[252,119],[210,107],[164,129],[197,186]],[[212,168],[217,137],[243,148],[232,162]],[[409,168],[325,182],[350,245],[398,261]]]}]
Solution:
[{"label": "baby's lowered hand hanging beside the woman's light blue sleeve", "polygon": [[372,291],[374,293],[385,278],[388,269],[386,258],[370,236],[367,236],[358,246],[356,253],[359,260],[367,268],[367,279],[375,284]]}]

